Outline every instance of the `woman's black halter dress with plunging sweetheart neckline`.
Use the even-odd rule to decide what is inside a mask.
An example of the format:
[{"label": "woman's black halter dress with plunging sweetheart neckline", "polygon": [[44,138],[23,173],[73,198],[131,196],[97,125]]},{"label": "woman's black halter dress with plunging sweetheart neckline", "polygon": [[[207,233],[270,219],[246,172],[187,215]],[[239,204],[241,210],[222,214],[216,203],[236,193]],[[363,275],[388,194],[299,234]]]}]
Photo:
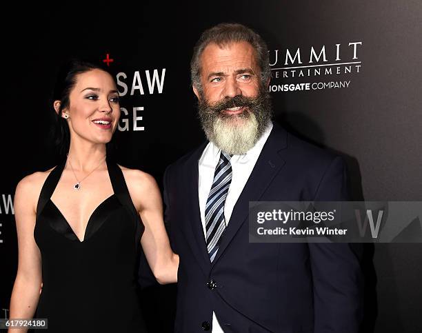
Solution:
[{"label": "woman's black halter dress with plunging sweetheart neckline", "polygon": [[43,288],[39,332],[146,332],[137,294],[137,258],[144,227],[123,173],[107,161],[114,194],[92,213],[83,241],[51,201],[65,164],[46,179],[34,239],[41,251]]}]

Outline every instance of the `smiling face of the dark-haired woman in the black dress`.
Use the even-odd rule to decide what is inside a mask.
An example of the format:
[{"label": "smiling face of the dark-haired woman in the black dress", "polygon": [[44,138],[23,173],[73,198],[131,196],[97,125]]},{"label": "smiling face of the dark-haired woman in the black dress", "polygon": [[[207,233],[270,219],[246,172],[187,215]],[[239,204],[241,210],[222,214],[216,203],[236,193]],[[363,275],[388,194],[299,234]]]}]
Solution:
[{"label": "smiling face of the dark-haired woman in the black dress", "polygon": [[71,139],[108,143],[120,117],[119,92],[110,74],[90,70],[77,75],[69,95],[68,114]]}]

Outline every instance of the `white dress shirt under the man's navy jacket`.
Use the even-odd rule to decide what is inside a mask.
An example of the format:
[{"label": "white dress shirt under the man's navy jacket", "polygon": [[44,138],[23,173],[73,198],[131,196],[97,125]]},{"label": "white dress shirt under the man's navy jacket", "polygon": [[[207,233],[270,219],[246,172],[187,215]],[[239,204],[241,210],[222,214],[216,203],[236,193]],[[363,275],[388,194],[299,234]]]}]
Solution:
[{"label": "white dress shirt under the man's navy jacket", "polygon": [[[239,199],[246,182],[249,179],[252,170],[254,169],[255,163],[257,163],[259,154],[263,145],[268,139],[272,130],[272,123],[268,123],[265,132],[263,132],[261,138],[255,143],[255,145],[243,155],[233,155],[230,159],[232,164],[232,183],[228,190],[227,197],[224,203],[224,217],[225,224],[228,225],[230,216],[232,216],[234,205]],[[210,193],[212,181],[214,181],[215,167],[220,159],[221,150],[210,142],[203,150],[201,158],[199,159],[199,210],[201,211],[201,221],[203,234],[205,237],[205,205],[207,203],[208,194]],[[212,333],[223,333],[215,313],[212,312]]]}]

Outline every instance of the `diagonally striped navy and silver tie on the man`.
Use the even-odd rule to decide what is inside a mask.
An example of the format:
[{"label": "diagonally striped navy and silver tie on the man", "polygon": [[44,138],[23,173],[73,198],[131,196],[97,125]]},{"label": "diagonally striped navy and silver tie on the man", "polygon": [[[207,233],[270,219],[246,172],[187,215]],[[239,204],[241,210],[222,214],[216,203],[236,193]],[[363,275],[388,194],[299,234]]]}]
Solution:
[{"label": "diagonally striped navy and silver tie on the man", "polygon": [[205,231],[207,250],[212,262],[219,250],[221,236],[225,230],[224,203],[232,182],[230,155],[221,152],[219,163],[214,172],[214,181],[205,205]]}]

